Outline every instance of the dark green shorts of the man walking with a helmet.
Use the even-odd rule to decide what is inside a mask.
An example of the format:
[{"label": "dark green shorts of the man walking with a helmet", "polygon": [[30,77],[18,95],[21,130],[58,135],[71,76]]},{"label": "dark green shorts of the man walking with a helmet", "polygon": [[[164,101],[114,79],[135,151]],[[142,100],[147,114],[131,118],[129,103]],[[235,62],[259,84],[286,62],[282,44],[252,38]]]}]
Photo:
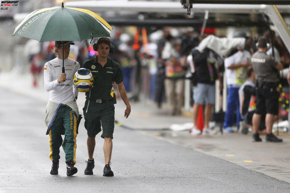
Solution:
[{"label": "dark green shorts of the man walking with a helmet", "polygon": [[[89,107],[87,107],[88,103]],[[101,132],[102,126],[103,133],[101,137],[111,137],[113,139],[115,126],[115,106],[112,101],[105,103],[96,103],[95,100],[87,99],[85,102],[85,106],[82,110],[84,111],[87,136],[96,136],[98,133]]]}]

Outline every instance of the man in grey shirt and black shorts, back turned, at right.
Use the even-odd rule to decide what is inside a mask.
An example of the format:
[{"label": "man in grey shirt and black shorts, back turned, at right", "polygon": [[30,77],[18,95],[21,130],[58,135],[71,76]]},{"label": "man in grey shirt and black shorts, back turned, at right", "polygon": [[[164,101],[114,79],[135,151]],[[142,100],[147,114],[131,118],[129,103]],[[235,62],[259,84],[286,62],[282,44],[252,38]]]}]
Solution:
[{"label": "man in grey shirt and black shorts, back turned, at right", "polygon": [[252,65],[256,74],[256,111],[252,118],[253,123],[253,140],[262,141],[259,137],[258,129],[261,116],[266,112],[266,141],[282,142],[272,134],[273,118],[278,115],[278,98],[280,88],[278,86],[277,70],[282,70],[283,66],[277,62],[273,56],[266,54],[267,39],[261,37],[258,40],[258,51],[252,57]]}]

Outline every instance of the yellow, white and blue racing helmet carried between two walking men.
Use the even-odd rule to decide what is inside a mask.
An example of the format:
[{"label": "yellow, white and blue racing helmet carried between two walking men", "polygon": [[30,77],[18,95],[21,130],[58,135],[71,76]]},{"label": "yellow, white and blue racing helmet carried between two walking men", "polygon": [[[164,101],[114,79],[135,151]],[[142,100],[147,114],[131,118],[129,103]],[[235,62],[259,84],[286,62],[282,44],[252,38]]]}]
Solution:
[{"label": "yellow, white and blue racing helmet carried between two walking men", "polygon": [[94,78],[90,70],[80,68],[74,73],[74,87],[79,92],[87,92],[93,87]]}]

